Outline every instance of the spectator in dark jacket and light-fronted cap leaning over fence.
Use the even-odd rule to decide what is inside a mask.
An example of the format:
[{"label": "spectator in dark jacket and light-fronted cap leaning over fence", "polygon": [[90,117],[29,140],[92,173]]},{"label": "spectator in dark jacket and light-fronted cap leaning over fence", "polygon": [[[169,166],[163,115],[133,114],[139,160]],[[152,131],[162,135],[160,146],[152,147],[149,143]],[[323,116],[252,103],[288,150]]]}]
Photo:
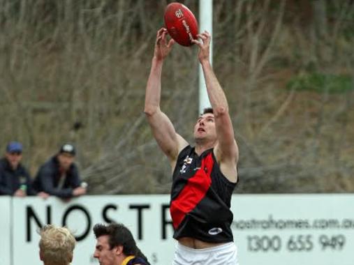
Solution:
[{"label": "spectator in dark jacket and light-fronted cap leaning over fence", "polygon": [[75,165],[75,147],[72,144],[61,146],[59,153],[40,167],[34,179],[38,192],[47,192],[62,199],[86,194],[78,167]]}]

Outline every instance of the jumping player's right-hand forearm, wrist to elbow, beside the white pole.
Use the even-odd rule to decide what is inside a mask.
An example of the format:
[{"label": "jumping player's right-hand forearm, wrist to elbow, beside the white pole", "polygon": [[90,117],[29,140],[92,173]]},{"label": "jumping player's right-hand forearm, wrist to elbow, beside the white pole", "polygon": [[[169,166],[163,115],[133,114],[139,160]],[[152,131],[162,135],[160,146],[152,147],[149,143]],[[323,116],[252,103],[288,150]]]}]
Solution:
[{"label": "jumping player's right-hand forearm, wrist to elbow, beside the white pole", "polygon": [[205,84],[207,86],[207,94],[210,104],[214,109],[214,114],[228,112],[228,100],[226,100],[225,93],[216,78],[212,65],[209,60],[201,62],[203,73],[205,76]]}]

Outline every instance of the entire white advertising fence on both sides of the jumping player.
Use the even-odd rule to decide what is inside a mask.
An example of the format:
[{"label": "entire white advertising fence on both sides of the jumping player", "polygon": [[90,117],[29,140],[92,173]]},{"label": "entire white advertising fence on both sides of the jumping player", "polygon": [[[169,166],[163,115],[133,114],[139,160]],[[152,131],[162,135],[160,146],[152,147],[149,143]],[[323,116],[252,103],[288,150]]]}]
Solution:
[{"label": "entire white advertising fence on both sides of the jumping player", "polygon": [[[0,197],[0,264],[40,264],[38,227],[75,234],[73,265],[93,258],[98,222],[122,222],[154,265],[172,264],[175,240],[168,195]],[[354,265],[354,195],[233,195],[240,265]]]}]

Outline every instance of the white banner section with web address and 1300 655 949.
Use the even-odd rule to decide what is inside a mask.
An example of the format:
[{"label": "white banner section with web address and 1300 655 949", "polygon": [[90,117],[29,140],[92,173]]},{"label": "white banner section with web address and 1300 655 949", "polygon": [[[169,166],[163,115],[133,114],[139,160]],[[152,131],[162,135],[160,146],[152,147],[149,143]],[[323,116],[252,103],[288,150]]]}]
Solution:
[{"label": "white banner section with web address and 1300 655 949", "polygon": [[353,195],[233,197],[240,264],[353,265]]}]

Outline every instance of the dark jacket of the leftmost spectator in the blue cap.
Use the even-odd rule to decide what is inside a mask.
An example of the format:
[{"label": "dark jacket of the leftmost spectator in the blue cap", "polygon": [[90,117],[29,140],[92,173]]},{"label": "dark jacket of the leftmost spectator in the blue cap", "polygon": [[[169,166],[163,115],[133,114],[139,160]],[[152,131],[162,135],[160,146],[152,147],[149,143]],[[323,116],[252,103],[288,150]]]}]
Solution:
[{"label": "dark jacket of the leftmost spectator in the blue cap", "polygon": [[22,185],[27,195],[36,195],[27,169],[21,164],[16,169],[13,169],[6,158],[1,158],[0,195],[13,195]]}]

